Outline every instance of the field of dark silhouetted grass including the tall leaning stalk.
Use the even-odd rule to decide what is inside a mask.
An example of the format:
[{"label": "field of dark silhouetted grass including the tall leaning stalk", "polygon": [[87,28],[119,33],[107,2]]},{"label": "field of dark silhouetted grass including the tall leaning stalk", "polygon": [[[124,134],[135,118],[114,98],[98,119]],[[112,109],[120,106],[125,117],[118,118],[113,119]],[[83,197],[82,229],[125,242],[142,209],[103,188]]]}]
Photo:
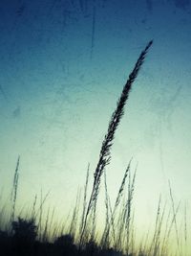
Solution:
[{"label": "field of dark silhouetted grass including the tall leaning stalk", "polygon": [[[117,108],[112,114],[102,142],[91,194],[88,195],[88,168],[83,193],[77,193],[73,213],[67,221],[56,224],[53,209],[49,208],[45,212],[44,205],[49,193],[45,196],[41,193],[39,201],[35,197],[31,209],[21,210],[20,215],[16,216],[20,163],[18,157],[13,175],[11,205],[1,199],[0,255],[189,255],[186,254],[186,207],[180,230],[180,204],[177,205],[174,201],[170,182],[168,205],[159,197],[155,226],[148,231],[145,230],[145,236],[140,241],[137,241],[138,230],[134,222],[133,198],[137,169],[132,171],[133,160],[127,164],[114,203],[111,202],[107,189],[106,166],[111,161],[115,133],[124,114],[132,84],[152,43],[150,41],[141,52],[117,101]],[[101,180],[104,183],[105,208],[102,214],[105,216],[105,222],[102,230],[98,230],[97,198]]]}]

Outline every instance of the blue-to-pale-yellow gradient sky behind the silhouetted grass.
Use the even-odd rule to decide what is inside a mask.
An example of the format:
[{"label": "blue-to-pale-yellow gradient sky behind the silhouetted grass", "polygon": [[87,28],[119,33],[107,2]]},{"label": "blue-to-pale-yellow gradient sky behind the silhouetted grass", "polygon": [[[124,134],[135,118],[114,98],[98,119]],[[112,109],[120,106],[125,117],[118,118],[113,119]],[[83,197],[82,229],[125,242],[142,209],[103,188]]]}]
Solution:
[{"label": "blue-to-pale-yellow gradient sky behind the silhouetted grass", "polygon": [[[147,42],[107,167],[117,195],[133,157],[140,226],[159,194],[189,210],[191,197],[191,1],[2,0],[0,4],[0,189],[18,201],[42,190],[59,216],[91,178],[110,116]],[[102,185],[103,186],[103,185]]]}]

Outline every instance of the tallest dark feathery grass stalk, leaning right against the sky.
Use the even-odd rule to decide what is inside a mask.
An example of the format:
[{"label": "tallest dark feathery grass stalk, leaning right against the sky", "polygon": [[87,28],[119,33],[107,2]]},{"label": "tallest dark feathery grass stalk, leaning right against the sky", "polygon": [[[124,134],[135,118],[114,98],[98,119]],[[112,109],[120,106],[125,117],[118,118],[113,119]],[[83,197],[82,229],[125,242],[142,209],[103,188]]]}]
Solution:
[{"label": "tallest dark feathery grass stalk, leaning right against the sky", "polygon": [[107,133],[105,135],[105,138],[103,140],[102,147],[101,147],[101,150],[99,153],[99,160],[98,160],[95,175],[94,175],[93,189],[92,189],[91,197],[89,199],[88,207],[86,210],[84,225],[83,225],[82,232],[80,235],[80,240],[79,240],[79,247],[81,247],[81,245],[83,244],[84,232],[86,229],[87,220],[88,220],[91,208],[93,207],[94,203],[96,203],[96,198],[97,198],[98,192],[99,192],[101,176],[103,174],[105,167],[110,163],[110,160],[111,160],[111,148],[113,145],[113,140],[115,138],[115,133],[116,133],[117,127],[119,125],[119,122],[120,122],[123,114],[124,114],[124,106],[128,100],[129,93],[132,88],[132,84],[138,76],[140,67],[141,67],[141,65],[144,61],[144,58],[146,57],[146,54],[147,54],[149,48],[151,47],[152,43],[153,43],[153,41],[151,40],[146,45],[145,49],[141,52],[132,73],[129,75],[129,78],[123,87],[122,93],[117,102],[117,108],[114,111],[114,113],[112,114],[112,117],[111,117],[111,120],[109,123],[109,127],[108,127]]}]

